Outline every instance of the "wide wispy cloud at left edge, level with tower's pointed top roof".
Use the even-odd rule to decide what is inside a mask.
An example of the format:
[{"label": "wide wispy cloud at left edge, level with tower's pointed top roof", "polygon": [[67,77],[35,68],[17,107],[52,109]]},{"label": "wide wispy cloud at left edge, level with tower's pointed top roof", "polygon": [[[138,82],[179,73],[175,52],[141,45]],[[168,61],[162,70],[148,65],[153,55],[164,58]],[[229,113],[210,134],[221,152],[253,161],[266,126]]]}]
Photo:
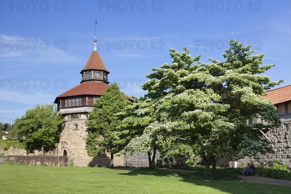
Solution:
[{"label": "wide wispy cloud at left edge, level with tower's pointed top roof", "polygon": [[[59,65],[59,64],[67,64],[72,65],[72,63],[82,63],[80,59],[77,59],[72,54],[67,54],[66,48],[64,46],[65,43],[59,45],[59,48],[56,48],[54,42],[49,40],[45,40],[49,43],[47,47],[46,44],[41,45],[40,42],[44,41],[35,37],[21,37],[17,35],[7,35],[0,34],[1,41],[6,40],[8,45],[2,45],[0,59],[1,62],[5,62],[2,64],[2,67],[9,66],[11,63],[17,63],[17,67],[20,66],[28,66],[28,65]],[[10,43],[16,44],[11,48]],[[21,42],[24,42],[23,44]],[[64,47],[61,47],[64,46]],[[45,48],[43,48],[45,47]],[[21,51],[19,51],[21,50]]]}]

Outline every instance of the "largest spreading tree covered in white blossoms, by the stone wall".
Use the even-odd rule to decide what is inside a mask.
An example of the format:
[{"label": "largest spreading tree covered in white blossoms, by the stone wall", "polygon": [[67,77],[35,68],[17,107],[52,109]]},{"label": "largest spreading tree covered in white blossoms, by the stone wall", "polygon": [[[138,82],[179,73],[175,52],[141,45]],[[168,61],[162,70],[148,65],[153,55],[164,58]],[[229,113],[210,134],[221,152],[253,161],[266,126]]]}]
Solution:
[{"label": "largest spreading tree covered in white blossoms, by the stone wall", "polygon": [[[209,174],[215,173],[219,158],[272,152],[253,128],[280,123],[271,101],[260,96],[282,81],[262,75],[275,65],[261,65],[263,54],[252,55],[250,47],[230,40],[226,61],[209,59],[210,64],[200,62],[200,55],[192,58],[187,48],[182,53],[170,49],[173,63],[146,75],[150,80],[142,88],[150,103],[136,112],[151,118],[126,149],[148,152],[156,147],[164,156],[200,155]],[[246,125],[246,119],[258,115],[272,125]]]}]

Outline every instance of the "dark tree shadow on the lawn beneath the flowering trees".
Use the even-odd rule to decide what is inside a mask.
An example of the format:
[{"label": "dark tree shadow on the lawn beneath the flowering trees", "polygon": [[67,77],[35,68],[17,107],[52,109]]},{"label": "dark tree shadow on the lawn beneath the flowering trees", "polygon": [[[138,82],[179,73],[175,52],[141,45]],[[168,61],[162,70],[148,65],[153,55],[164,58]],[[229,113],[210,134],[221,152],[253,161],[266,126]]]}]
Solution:
[{"label": "dark tree shadow on the lawn beneath the flowering trees", "polygon": [[211,177],[206,172],[178,172],[166,169],[139,169],[131,170],[127,173],[119,173],[119,175],[178,177],[179,181],[191,183],[196,186],[210,187],[218,190],[217,192],[226,192],[230,194],[286,194],[291,191],[291,187],[287,186],[245,182],[240,180],[237,175],[230,175],[224,178]]}]

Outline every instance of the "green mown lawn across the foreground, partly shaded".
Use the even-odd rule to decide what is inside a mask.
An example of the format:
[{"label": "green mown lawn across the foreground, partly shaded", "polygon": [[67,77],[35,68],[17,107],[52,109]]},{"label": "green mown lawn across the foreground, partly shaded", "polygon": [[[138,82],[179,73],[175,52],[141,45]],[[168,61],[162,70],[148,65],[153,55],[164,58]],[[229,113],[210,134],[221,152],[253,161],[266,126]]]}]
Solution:
[{"label": "green mown lawn across the foreground, partly shaded", "polygon": [[167,170],[0,164],[0,194],[289,194],[291,187]]}]

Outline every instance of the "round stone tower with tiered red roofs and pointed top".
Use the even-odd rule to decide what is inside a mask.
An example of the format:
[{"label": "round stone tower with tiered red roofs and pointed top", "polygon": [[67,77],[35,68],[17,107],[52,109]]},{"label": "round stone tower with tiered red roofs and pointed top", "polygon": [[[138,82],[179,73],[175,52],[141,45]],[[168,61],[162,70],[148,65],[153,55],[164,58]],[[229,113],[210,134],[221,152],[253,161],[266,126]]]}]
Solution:
[{"label": "round stone tower with tiered red roofs and pointed top", "polygon": [[[110,159],[103,157],[89,157],[86,146],[85,121],[88,113],[93,110],[97,97],[102,95],[109,84],[110,71],[103,64],[95,45],[89,60],[81,70],[81,83],[65,93],[56,97],[58,113],[65,119],[65,125],[61,131],[60,142],[57,146],[59,156],[70,156],[76,166],[109,165]],[[132,98],[125,95],[133,101]]]}]

